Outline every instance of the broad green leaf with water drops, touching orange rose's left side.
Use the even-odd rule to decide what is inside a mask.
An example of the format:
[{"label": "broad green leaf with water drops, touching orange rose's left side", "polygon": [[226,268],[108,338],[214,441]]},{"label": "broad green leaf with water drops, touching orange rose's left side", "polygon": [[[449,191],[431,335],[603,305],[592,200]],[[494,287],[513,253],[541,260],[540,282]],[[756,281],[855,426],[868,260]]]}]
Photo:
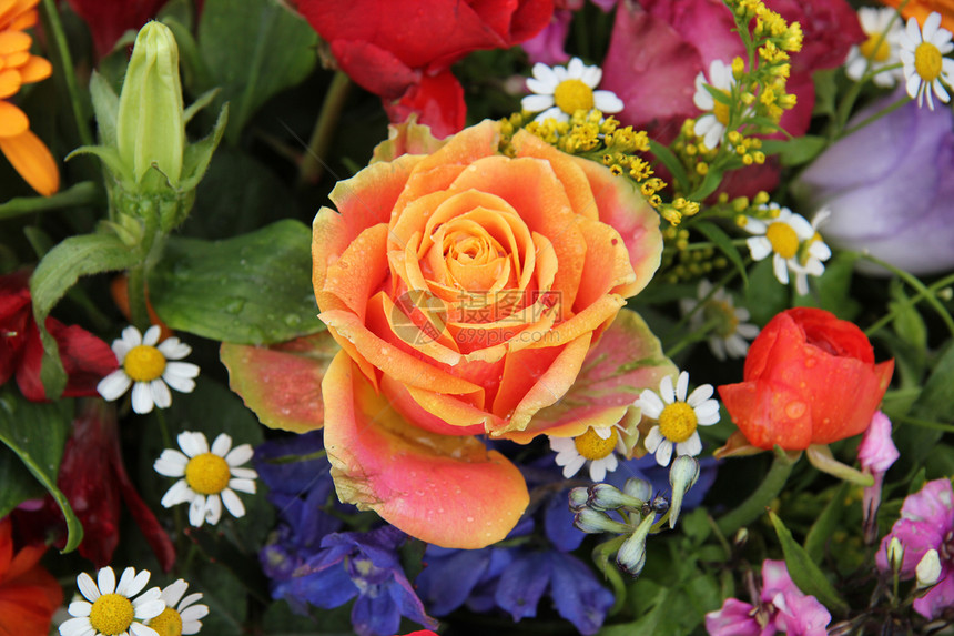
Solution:
[{"label": "broad green leaf with water drops, touching orange rose's left side", "polygon": [[149,280],[170,327],[222,342],[271,344],[324,329],[312,291],[312,233],[278,221],[224,241],[172,236]]}]

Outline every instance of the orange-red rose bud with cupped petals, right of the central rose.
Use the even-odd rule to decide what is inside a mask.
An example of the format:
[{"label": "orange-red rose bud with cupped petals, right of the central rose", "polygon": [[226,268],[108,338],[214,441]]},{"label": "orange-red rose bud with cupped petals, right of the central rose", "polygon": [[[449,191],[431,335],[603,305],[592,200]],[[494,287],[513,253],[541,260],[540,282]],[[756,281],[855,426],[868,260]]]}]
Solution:
[{"label": "orange-red rose bud with cupped petals, right of the central rose", "polygon": [[801,451],[862,433],[894,371],[854,324],[810,307],[773,317],[749,347],[744,382],[719,387],[749,443]]}]

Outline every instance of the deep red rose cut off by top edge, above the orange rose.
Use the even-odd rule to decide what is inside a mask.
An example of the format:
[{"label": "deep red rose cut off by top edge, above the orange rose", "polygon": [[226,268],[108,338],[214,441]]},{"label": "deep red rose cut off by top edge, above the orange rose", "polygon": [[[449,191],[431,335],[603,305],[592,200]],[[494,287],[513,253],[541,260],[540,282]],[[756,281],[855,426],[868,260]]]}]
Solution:
[{"label": "deep red rose cut off by top edge, above the orange rose", "polygon": [[[552,0],[297,0],[338,67],[379,95],[395,121],[420,113],[436,137],[464,128],[464,91],[450,65],[471,51],[508,49],[549,24]],[[397,104],[390,104],[399,100]]]}]

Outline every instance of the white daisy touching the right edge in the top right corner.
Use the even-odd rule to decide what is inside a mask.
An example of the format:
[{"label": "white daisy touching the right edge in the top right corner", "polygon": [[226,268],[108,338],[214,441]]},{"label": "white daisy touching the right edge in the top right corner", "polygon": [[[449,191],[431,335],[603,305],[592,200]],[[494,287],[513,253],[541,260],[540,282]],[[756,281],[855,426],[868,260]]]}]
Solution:
[{"label": "white daisy touching the right edge in the top right corner", "polygon": [[944,57],[954,50],[954,43],[951,42],[951,31],[941,28],[941,13],[933,11],[927,16],[923,30],[917,27],[917,20],[910,18],[900,43],[899,57],[911,99],[917,98],[921,107],[926,94],[927,108],[934,110],[933,92],[947,103],[951,98],[941,82],[951,85],[954,79],[954,60]]}]

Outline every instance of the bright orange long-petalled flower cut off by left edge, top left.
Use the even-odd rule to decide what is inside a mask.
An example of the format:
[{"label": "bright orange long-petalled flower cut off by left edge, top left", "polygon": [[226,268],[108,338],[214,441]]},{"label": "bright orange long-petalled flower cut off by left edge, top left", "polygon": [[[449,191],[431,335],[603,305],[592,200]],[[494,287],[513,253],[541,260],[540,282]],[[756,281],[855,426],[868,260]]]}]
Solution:
[{"label": "bright orange long-petalled flower cut off by left edge, top left", "polygon": [[37,23],[39,0],[0,2],[0,152],[33,190],[49,196],[60,188],[57,161],[30,130],[27,114],[8,100],[31,84],[50,77],[50,62],[30,53],[33,38],[24,29]]}]

